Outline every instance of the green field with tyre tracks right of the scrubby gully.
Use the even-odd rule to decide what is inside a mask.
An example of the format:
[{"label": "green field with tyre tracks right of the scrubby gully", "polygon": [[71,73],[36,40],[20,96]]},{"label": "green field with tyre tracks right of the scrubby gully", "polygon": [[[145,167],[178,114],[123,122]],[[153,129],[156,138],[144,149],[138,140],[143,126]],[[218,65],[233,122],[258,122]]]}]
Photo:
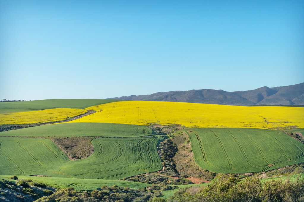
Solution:
[{"label": "green field with tyre tracks right of the scrubby gully", "polygon": [[276,130],[192,128],[188,133],[195,162],[209,171],[262,172],[304,162],[304,145]]}]

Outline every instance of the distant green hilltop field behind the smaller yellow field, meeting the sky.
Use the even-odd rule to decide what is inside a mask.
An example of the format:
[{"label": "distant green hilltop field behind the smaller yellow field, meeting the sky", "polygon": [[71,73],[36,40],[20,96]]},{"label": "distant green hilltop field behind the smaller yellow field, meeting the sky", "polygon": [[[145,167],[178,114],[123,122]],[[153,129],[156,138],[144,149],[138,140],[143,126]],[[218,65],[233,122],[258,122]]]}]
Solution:
[{"label": "distant green hilltop field behind the smaller yellow field, meeting the sky", "polygon": [[54,108],[84,109],[98,104],[118,102],[123,100],[97,100],[97,99],[53,99],[53,100],[33,100],[24,102],[0,102],[0,114],[36,111]]}]

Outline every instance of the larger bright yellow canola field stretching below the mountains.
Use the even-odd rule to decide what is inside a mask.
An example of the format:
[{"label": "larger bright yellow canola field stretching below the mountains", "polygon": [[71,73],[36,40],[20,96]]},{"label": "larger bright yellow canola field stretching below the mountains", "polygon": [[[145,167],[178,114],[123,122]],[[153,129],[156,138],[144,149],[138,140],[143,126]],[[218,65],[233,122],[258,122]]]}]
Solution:
[{"label": "larger bright yellow canola field stretching below the mountains", "polygon": [[98,112],[71,122],[181,124],[185,127],[304,128],[304,108],[300,107],[123,101],[86,109]]}]

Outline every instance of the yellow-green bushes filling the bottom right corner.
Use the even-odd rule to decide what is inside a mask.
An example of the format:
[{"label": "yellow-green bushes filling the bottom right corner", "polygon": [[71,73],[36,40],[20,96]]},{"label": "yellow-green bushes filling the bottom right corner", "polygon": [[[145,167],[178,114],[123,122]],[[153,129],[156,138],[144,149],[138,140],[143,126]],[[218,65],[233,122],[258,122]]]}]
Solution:
[{"label": "yellow-green bushes filling the bottom right corner", "polygon": [[191,188],[179,190],[168,201],[208,201],[208,202],[281,202],[304,201],[304,180],[291,182],[289,179],[267,180],[246,178],[239,182],[234,177],[222,176],[197,193]]}]

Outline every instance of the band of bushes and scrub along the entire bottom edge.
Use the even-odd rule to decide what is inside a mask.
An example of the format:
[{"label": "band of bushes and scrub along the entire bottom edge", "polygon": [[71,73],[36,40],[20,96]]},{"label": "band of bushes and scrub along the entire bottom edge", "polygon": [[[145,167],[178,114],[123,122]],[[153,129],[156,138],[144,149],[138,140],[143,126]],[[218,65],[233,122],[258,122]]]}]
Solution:
[{"label": "band of bushes and scrub along the entire bottom edge", "polygon": [[222,176],[204,187],[185,187],[179,189],[168,199],[161,198],[165,190],[175,186],[151,185],[141,189],[129,187],[102,186],[93,191],[77,191],[74,188],[57,189],[42,183],[17,180],[16,184],[0,181],[0,201],[33,201],[36,202],[300,202],[304,201],[304,180],[298,177],[292,181],[246,178],[237,180],[234,177]]}]

